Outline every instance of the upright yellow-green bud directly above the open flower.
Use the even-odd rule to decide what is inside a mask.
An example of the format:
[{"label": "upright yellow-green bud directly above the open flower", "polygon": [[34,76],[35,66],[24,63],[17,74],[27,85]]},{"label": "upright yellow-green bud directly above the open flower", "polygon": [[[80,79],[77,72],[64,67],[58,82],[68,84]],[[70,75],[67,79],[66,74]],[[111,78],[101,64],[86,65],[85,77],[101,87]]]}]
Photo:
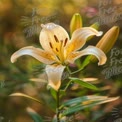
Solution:
[{"label": "upright yellow-green bud directly above the open flower", "polygon": [[82,17],[79,13],[73,15],[71,22],[70,22],[70,34],[82,27]]}]

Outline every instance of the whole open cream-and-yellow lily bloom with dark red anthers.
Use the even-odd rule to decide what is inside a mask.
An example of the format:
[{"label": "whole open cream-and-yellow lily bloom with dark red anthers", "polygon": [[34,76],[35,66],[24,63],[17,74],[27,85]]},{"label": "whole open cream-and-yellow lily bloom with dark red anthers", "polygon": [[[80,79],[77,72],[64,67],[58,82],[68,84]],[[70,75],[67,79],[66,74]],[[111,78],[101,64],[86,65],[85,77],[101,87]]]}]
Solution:
[{"label": "whole open cream-and-yellow lily bloom with dark red anthers", "polygon": [[80,50],[86,43],[88,37],[101,36],[102,32],[92,27],[84,27],[75,30],[71,39],[66,30],[54,23],[41,25],[40,44],[43,49],[27,46],[15,52],[11,57],[11,62],[15,62],[18,57],[30,55],[38,61],[46,64],[45,71],[48,76],[48,85],[58,91],[61,86],[63,71],[69,63],[84,55],[94,55],[98,58],[98,65],[106,62],[106,55],[97,47],[88,46]]}]

